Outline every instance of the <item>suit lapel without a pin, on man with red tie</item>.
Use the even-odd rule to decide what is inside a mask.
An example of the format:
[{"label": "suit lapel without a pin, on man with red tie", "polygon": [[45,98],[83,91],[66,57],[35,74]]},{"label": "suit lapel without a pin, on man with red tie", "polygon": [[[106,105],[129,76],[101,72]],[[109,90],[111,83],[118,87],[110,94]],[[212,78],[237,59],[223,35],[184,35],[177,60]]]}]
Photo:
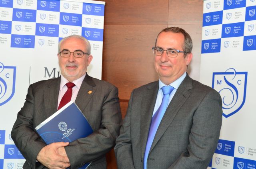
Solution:
[{"label": "suit lapel without a pin, on man with red tie", "polygon": [[48,81],[44,90],[44,108],[47,118],[57,111],[60,77]]}]

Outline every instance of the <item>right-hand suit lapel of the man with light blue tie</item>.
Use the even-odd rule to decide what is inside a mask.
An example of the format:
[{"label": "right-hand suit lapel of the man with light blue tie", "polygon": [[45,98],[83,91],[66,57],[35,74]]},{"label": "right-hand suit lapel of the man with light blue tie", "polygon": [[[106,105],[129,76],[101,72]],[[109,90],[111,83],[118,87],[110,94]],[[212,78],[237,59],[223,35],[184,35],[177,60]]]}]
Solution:
[{"label": "right-hand suit lapel of the man with light blue tie", "polygon": [[168,108],[166,109],[166,112],[162,118],[162,121],[160,122],[158,130],[156,132],[156,136],[150,148],[150,152],[152,151],[156,143],[160,140],[160,138],[163,136],[163,134],[166,132],[167,128],[172,123],[172,120],[175,118],[181,106],[186,102],[186,100],[190,96],[191,93],[189,92],[189,90],[192,88],[192,79],[188,75],[186,75],[184,81],[178,87],[178,90],[174,94],[172,101],[170,102]]}]

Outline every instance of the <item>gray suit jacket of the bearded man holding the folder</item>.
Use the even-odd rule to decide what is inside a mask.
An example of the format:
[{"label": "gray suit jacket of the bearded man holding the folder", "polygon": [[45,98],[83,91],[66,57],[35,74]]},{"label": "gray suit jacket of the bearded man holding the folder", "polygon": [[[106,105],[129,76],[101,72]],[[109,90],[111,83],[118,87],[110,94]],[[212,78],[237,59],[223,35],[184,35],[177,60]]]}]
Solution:
[{"label": "gray suit jacket of the bearded man holding the folder", "polygon": [[[46,168],[36,163],[39,151],[46,144],[34,128],[57,111],[59,88],[60,77],[39,81],[28,88],[26,102],[18,112],[11,132],[15,145],[26,159],[24,169]],[[75,102],[94,132],[65,147],[71,168],[90,161],[92,164],[89,169],[106,168],[105,154],[114,146],[122,120],[118,89],[86,75]]]}]

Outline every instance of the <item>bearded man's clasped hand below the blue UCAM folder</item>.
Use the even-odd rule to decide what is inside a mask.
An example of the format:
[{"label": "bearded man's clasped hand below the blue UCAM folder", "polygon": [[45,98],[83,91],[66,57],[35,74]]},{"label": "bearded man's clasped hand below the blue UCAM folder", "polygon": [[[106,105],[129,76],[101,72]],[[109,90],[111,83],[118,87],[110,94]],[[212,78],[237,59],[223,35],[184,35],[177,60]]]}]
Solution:
[{"label": "bearded man's clasped hand below the blue UCAM folder", "polygon": [[70,167],[69,159],[64,149],[68,142],[57,142],[46,145],[40,150],[36,159],[49,169],[66,169]]}]

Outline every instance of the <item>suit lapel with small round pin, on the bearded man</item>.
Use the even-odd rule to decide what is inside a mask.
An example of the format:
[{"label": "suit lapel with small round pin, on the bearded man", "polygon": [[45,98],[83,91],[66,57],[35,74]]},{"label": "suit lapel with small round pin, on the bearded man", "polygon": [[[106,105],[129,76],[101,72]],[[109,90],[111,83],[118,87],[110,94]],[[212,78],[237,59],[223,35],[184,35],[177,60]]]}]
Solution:
[{"label": "suit lapel with small round pin, on the bearded man", "polygon": [[94,92],[96,91],[96,85],[94,81],[92,80],[92,77],[87,75],[84,78],[84,81],[82,82],[82,85],[78,91],[78,95],[76,97],[76,104],[80,108],[82,112],[84,112],[84,109],[86,108],[88,102],[92,98]]}]

